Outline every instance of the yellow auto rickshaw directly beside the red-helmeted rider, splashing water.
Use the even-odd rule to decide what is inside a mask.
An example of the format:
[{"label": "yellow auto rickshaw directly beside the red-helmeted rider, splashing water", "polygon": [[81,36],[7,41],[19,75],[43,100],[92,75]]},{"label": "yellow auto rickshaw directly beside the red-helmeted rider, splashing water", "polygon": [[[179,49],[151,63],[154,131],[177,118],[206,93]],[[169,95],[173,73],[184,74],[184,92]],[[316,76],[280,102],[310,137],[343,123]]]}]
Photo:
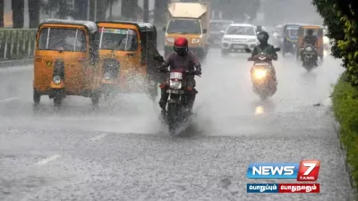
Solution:
[{"label": "yellow auto rickshaw directly beside the red-helmeted rider, splashing water", "polygon": [[105,100],[116,92],[148,93],[158,96],[158,80],[154,79],[157,29],[149,23],[98,21],[98,44],[101,78]]}]

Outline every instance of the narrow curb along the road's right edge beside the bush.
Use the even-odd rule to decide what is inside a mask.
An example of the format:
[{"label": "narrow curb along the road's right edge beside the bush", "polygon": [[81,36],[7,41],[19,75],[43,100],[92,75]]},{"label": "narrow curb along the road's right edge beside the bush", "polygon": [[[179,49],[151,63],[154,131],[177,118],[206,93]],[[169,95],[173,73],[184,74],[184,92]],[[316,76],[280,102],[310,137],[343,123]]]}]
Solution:
[{"label": "narrow curb along the road's right edge beside the bush", "polygon": [[353,198],[354,200],[358,200],[358,190],[357,190],[357,184],[356,182],[354,181],[354,177],[352,175],[352,166],[347,162],[347,158],[346,158],[346,149],[345,149],[345,145],[342,143],[341,141],[341,134],[340,134],[340,129],[341,129],[341,125],[339,124],[338,121],[336,121],[335,119],[335,115],[333,112],[330,113],[332,116],[333,116],[333,128],[335,129],[336,133],[337,133],[337,137],[338,137],[338,140],[339,140],[339,145],[340,145],[340,148],[344,151],[345,153],[345,172],[348,173],[348,180],[349,180],[349,183],[351,185],[351,188],[353,190]]}]

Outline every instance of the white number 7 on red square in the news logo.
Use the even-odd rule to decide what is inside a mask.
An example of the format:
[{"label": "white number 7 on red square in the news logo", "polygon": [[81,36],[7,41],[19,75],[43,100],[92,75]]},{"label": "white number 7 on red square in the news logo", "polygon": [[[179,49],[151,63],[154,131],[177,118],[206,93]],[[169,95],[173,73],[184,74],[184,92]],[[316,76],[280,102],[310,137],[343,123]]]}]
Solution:
[{"label": "white number 7 on red square in the news logo", "polygon": [[316,181],[319,178],[320,161],[301,161],[297,173],[298,181]]}]

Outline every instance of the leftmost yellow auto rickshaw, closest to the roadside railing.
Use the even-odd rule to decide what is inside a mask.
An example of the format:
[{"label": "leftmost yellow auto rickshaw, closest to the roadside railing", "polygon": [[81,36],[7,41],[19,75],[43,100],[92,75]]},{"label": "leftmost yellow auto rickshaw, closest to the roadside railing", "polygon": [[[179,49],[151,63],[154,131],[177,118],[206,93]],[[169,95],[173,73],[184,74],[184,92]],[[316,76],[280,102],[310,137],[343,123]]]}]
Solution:
[{"label": "leftmost yellow auto rickshaw, closest to the roadside railing", "polygon": [[[34,57],[33,100],[48,95],[55,106],[65,96],[86,96],[98,105],[96,68],[98,28],[92,21],[47,20],[38,26]],[[99,67],[98,67],[99,68]]]}]

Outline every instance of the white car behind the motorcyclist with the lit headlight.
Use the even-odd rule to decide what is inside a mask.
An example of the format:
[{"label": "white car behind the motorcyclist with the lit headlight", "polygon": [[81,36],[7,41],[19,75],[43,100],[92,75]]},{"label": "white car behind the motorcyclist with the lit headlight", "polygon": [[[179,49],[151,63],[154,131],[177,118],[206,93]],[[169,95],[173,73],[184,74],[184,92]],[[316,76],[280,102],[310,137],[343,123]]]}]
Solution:
[{"label": "white car behind the motorcyclist with the lit headlight", "polygon": [[227,27],[221,40],[221,53],[244,51],[245,48],[253,50],[259,45],[256,27],[251,24],[231,24]]}]

